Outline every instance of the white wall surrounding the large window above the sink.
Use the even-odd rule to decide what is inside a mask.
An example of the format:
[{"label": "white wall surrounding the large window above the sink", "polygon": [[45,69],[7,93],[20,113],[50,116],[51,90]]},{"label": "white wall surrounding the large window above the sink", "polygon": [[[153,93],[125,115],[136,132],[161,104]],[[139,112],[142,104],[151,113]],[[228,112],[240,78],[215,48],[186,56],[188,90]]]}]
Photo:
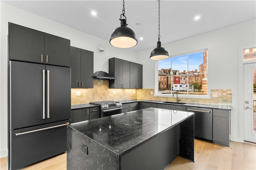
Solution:
[{"label": "white wall surrounding the large window above the sink", "polygon": [[[163,45],[168,49],[170,56],[210,47],[208,72],[211,89],[232,89],[230,138],[233,141],[243,141],[243,112],[239,111],[239,108],[243,107],[243,103],[239,103],[243,92],[239,91],[242,89],[239,89],[238,81],[238,75],[242,76],[238,68],[242,63],[242,54],[238,51],[246,44],[256,44],[255,30],[256,20],[252,20]],[[154,88],[155,61],[149,59],[152,50],[138,53],[138,59],[143,64],[143,88]]]}]

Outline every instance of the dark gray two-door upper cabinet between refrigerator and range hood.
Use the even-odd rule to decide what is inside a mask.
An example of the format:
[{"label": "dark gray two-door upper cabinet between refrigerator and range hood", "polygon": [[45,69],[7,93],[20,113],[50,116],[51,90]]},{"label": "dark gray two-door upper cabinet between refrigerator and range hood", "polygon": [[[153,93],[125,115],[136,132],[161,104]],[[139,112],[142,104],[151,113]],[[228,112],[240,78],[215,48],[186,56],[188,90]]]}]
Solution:
[{"label": "dark gray two-door upper cabinet between refrigerator and range hood", "polygon": [[71,88],[93,88],[93,52],[70,47]]}]

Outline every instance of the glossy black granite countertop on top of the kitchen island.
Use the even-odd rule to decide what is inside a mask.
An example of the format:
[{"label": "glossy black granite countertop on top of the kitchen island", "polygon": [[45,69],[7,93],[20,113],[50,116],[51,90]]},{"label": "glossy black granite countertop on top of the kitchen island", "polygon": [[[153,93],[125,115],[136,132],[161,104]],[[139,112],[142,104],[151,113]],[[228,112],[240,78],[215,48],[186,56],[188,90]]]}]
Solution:
[{"label": "glossy black granite countertop on top of the kitchen island", "polygon": [[69,125],[116,154],[142,145],[192,116],[186,111],[146,108]]}]

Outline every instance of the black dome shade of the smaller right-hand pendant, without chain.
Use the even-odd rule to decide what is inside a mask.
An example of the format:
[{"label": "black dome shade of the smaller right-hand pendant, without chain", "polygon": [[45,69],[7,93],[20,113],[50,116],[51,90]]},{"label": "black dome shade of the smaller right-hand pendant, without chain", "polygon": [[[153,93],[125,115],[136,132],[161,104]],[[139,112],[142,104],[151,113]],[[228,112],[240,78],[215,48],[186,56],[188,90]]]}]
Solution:
[{"label": "black dome shade of the smaller right-hand pendant, without chain", "polygon": [[161,47],[161,42],[157,42],[157,47],[151,52],[150,57],[151,60],[164,60],[169,58],[168,51]]}]

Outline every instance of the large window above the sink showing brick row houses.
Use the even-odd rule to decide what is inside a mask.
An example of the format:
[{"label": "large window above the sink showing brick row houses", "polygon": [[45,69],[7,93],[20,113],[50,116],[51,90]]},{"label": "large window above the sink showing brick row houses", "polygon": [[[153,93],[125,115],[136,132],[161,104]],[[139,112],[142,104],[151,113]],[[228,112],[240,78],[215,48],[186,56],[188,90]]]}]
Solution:
[{"label": "large window above the sink showing brick row houses", "polygon": [[208,96],[208,49],[160,60],[157,71],[161,70],[166,74],[165,79],[168,77],[168,87],[156,90],[161,91],[160,96],[173,94],[174,90],[181,95]]}]

